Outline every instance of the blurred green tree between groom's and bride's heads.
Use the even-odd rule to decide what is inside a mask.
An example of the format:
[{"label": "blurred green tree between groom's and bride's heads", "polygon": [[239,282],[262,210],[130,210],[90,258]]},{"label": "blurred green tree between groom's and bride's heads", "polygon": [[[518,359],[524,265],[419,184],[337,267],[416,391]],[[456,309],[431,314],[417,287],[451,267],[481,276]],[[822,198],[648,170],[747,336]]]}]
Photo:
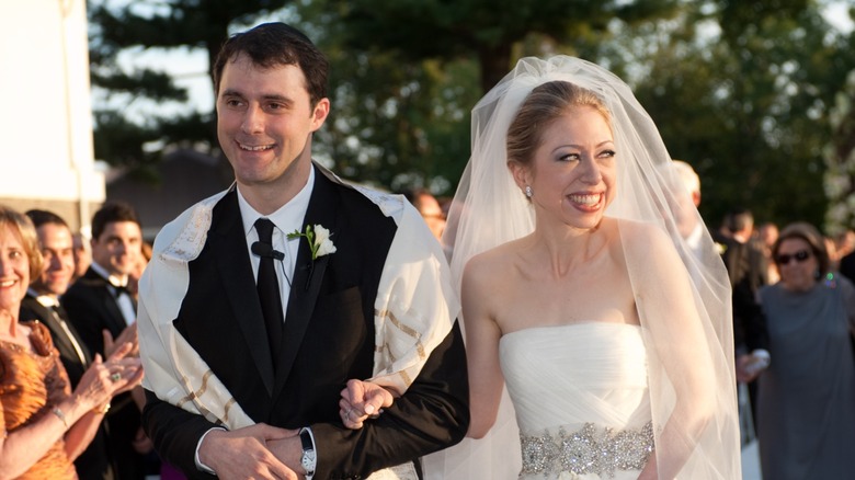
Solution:
[{"label": "blurred green tree between groom's and bride's heads", "polygon": [[676,3],[305,2],[300,25],[333,65],[333,122],[321,148],[347,178],[451,194],[469,156],[469,112],[518,57],[580,52],[607,39],[614,21],[658,20]]}]

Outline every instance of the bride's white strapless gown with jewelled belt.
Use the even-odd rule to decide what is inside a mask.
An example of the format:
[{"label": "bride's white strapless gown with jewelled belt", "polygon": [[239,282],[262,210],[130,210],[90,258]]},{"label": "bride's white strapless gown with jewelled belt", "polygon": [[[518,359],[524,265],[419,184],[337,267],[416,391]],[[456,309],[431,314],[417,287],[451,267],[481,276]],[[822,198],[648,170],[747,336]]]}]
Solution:
[{"label": "bride's white strapless gown with jewelled belt", "polygon": [[573,323],[505,334],[502,372],[521,479],[637,479],[653,448],[641,328]]}]

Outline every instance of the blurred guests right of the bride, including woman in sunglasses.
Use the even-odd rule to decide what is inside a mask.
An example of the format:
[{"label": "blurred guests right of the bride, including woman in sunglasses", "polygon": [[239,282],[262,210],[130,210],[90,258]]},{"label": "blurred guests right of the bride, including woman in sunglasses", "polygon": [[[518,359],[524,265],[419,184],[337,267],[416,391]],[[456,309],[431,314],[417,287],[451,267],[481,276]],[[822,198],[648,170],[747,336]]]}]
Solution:
[{"label": "blurred guests right of the bride, including woman in sunglasses", "polygon": [[[675,162],[698,205],[697,174]],[[855,231],[734,207],[711,233],[732,287],[743,445],[757,441],[764,478],[855,471]]]}]

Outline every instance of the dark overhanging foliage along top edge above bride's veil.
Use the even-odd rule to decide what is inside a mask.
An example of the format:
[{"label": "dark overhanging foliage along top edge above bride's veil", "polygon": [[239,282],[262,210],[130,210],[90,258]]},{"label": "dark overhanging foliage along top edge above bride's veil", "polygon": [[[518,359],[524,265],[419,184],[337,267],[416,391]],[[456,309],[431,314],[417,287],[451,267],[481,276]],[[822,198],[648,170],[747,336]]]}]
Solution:
[{"label": "dark overhanging foliage along top edge above bride's veil", "polygon": [[514,46],[532,33],[556,44],[602,34],[614,19],[666,18],[674,0],[331,0],[346,25],[344,41],[361,50],[396,50],[410,59],[471,58],[481,91],[504,77]]}]

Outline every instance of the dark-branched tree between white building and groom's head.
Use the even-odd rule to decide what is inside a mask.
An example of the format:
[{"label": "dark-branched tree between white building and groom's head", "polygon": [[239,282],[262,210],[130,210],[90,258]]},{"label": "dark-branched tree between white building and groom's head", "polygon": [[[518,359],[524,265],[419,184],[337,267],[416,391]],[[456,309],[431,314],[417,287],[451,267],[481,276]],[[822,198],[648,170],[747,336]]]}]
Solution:
[{"label": "dark-branched tree between white building and groom's head", "polygon": [[[124,71],[119,54],[203,49],[208,65],[230,25],[246,25],[282,9],[288,0],[135,0],[123,7],[90,0],[92,84],[103,92],[94,110],[95,156],[157,181],[152,167],[175,146],[216,150],[213,112],[149,113],[132,119],[132,102],[185,102],[187,91],[170,73],[151,68]],[[174,110],[174,108],[173,108]],[[185,108],[186,110],[186,108]]]}]

